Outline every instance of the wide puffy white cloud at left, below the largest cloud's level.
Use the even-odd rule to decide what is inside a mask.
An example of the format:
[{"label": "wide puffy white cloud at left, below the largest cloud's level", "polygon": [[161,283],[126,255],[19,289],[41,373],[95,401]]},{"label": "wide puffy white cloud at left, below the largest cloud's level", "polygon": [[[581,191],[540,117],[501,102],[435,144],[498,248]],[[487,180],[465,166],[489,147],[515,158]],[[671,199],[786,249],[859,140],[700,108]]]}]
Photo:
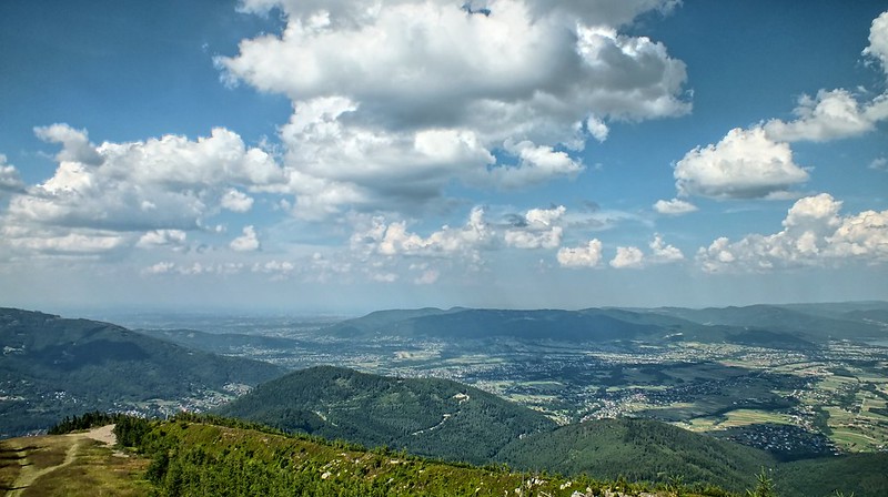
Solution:
[{"label": "wide puffy white cloud at left, below the largest cloud's level", "polygon": [[43,183],[12,195],[6,224],[194,230],[223,207],[246,207],[245,195],[232,196],[234,186],[259,189],[284,181],[269,154],[248,149],[224,129],[196,141],[165,135],[94,149],[84,132],[65,124],[39,128],[38,133],[62,143],[58,169]]}]

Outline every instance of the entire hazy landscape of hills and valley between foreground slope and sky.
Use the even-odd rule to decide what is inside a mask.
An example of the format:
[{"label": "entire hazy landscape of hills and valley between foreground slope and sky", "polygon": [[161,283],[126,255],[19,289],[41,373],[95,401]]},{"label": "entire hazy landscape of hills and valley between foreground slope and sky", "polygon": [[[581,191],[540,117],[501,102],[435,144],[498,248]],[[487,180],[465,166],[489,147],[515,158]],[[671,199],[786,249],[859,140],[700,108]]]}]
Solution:
[{"label": "entire hazy landscape of hills and valley between foreground slope and sky", "polygon": [[765,467],[781,496],[879,495],[886,307],[114,320],[127,327],[3,310],[0,423],[209,413],[458,464],[733,493]]}]

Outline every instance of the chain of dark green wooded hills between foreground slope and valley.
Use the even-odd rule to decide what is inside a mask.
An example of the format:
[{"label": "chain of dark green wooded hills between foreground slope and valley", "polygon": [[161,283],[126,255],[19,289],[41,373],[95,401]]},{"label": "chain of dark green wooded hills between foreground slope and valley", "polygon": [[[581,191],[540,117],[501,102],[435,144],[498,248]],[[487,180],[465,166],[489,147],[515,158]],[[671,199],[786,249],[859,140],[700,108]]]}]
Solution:
[{"label": "chain of dark green wooded hills between foreground slope and valley", "polygon": [[[874,488],[888,489],[879,479],[884,471],[874,466],[886,458],[859,459],[867,463],[860,465],[846,457],[781,464],[764,450],[644,419],[556,427],[535,410],[455,382],[330,366],[260,385],[218,413],[366,447],[574,477],[659,485],[680,478],[695,488],[743,493],[768,468],[785,490],[780,495],[829,496],[836,488],[858,488],[862,497],[880,495]],[[806,481],[798,469],[805,467],[818,467],[828,485]],[[859,481],[875,483],[861,487]]]}]

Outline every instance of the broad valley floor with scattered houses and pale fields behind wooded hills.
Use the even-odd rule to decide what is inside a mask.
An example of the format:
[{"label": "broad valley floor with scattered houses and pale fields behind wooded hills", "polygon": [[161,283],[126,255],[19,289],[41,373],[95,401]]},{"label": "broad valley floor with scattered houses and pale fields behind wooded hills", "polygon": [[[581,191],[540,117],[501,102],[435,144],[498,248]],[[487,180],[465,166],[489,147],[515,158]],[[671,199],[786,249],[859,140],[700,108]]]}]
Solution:
[{"label": "broad valley floor with scattered houses and pale fields behind wooded hills", "polygon": [[[334,364],[389,376],[454,379],[558,424],[657,419],[788,460],[888,449],[888,347],[867,341],[811,336],[804,329],[768,335],[680,323],[682,329],[674,321],[659,334],[633,339],[559,338],[557,322],[547,323],[552,337],[450,339],[446,331],[437,336],[405,333],[398,316],[382,321],[379,332],[344,336],[331,333],[342,324],[291,327],[283,320],[265,320],[233,328],[222,320],[213,326],[209,316],[204,333],[143,333],[287,369]],[[685,336],[687,331],[695,336]],[[232,335],[242,338],[235,342]]]}]

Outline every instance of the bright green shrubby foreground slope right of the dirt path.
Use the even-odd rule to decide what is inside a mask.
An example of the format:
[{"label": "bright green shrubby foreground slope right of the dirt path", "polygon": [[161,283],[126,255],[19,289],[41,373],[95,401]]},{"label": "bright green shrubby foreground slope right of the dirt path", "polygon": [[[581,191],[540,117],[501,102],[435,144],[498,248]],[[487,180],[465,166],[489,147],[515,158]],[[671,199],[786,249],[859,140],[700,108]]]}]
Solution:
[{"label": "bright green shrubby foreground slope right of the dirt path", "polygon": [[[138,437],[160,496],[638,496],[675,493],[627,483],[446,464],[386,450],[244,429],[224,419],[155,423]],[[215,425],[206,424],[218,423]],[[221,422],[221,423],[220,423]],[[228,426],[225,426],[228,425]],[[609,494],[605,494],[608,491]],[[610,493],[613,491],[613,493]],[[644,491],[644,494],[642,494]],[[683,493],[685,496],[724,495]]]}]

